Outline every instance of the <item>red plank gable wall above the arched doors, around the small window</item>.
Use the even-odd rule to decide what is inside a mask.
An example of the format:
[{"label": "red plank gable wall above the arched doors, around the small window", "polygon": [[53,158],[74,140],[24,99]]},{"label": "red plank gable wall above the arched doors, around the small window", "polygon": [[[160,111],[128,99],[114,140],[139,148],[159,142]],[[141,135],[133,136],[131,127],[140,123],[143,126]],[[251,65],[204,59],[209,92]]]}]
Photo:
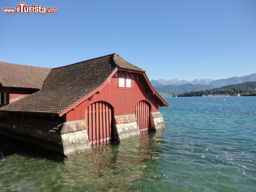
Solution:
[{"label": "red plank gable wall above the arched doors, around the small window", "polygon": [[[131,78],[131,88],[118,88],[119,76],[129,76]],[[66,114],[66,121],[86,119],[85,109],[97,101],[105,101],[111,104],[115,109],[113,113],[115,116],[134,114],[135,105],[141,100],[148,102],[152,112],[158,111],[156,98],[154,95],[147,93],[145,84],[140,79],[140,74],[117,71],[98,93],[69,111]]]}]

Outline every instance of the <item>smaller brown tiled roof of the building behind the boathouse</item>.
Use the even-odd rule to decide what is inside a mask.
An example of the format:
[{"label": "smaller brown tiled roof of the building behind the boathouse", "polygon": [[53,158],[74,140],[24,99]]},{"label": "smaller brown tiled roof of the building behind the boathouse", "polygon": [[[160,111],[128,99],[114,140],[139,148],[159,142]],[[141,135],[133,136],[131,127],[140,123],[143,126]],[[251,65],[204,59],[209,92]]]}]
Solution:
[{"label": "smaller brown tiled roof of the building behind the boathouse", "polygon": [[0,84],[4,87],[41,89],[50,68],[0,62]]}]

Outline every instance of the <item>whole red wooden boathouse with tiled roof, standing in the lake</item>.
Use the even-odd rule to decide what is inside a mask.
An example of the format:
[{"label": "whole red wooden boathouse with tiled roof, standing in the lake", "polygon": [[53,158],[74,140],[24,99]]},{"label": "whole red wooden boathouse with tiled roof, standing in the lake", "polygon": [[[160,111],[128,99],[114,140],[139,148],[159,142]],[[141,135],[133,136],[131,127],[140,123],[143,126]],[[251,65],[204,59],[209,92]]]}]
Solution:
[{"label": "whole red wooden boathouse with tiled roof, standing in the lake", "polygon": [[40,90],[0,108],[0,132],[69,156],[164,127],[158,106],[169,105],[145,70],[114,53],[48,71]]}]

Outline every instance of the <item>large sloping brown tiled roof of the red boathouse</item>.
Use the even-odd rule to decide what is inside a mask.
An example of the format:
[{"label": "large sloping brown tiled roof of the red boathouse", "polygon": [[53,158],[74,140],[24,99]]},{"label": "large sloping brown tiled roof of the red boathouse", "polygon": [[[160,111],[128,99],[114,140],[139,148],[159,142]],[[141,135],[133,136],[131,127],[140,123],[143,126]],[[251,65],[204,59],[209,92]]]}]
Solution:
[{"label": "large sloping brown tiled roof of the red boathouse", "polygon": [[0,110],[62,113],[99,88],[118,67],[144,72],[141,68],[123,60],[116,53],[53,68],[41,90],[10,103]]}]

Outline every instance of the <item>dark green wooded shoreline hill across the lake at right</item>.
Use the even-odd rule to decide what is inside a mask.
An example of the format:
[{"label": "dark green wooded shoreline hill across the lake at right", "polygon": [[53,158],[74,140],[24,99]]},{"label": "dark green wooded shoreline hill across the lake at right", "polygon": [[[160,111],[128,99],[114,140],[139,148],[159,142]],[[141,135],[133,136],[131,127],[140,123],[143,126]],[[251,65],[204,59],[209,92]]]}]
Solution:
[{"label": "dark green wooded shoreline hill across the lake at right", "polygon": [[181,94],[173,93],[177,97],[202,97],[202,96],[256,96],[256,81],[245,82],[214,88],[211,90],[191,91]]}]

